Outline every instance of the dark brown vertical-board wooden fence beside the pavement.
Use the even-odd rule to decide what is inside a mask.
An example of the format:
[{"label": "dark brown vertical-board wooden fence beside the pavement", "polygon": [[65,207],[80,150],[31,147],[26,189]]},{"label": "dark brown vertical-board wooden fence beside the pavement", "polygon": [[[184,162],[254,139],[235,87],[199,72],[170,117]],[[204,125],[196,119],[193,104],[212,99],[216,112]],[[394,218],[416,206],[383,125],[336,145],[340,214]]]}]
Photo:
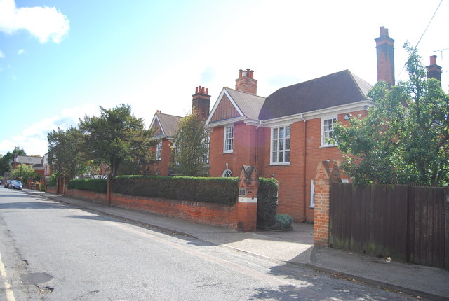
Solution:
[{"label": "dark brown vertical-board wooden fence beside the pavement", "polygon": [[330,246],[449,268],[447,188],[331,185]]}]

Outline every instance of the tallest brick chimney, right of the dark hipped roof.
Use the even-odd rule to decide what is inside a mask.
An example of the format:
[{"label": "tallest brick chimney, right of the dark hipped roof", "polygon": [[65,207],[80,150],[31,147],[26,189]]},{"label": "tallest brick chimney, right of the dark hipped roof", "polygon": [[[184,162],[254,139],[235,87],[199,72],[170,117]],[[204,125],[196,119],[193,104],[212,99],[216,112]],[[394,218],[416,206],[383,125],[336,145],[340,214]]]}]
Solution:
[{"label": "tallest brick chimney, right of the dark hipped roof", "polygon": [[394,85],[394,39],[388,36],[388,29],[380,27],[380,37],[375,39],[377,52],[377,81],[385,80]]}]

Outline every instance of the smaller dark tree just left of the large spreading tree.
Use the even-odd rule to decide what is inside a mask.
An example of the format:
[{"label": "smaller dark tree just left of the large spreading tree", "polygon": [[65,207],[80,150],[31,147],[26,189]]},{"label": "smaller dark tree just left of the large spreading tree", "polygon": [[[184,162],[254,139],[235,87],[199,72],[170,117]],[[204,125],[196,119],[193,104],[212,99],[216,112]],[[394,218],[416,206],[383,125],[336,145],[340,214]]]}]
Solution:
[{"label": "smaller dark tree just left of the large spreading tree", "polygon": [[49,160],[54,173],[68,179],[83,174],[86,165],[81,156],[81,131],[75,127],[47,134]]}]

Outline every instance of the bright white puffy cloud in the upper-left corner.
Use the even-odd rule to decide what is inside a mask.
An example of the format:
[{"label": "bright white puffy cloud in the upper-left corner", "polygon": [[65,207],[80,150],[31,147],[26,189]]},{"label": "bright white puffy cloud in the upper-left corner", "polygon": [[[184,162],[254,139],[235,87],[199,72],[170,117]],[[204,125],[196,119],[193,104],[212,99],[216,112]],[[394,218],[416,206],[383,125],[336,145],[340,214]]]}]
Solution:
[{"label": "bright white puffy cloud in the upper-left corner", "polygon": [[60,43],[69,28],[69,19],[54,7],[17,8],[14,0],[0,0],[0,31],[27,30],[41,43]]}]

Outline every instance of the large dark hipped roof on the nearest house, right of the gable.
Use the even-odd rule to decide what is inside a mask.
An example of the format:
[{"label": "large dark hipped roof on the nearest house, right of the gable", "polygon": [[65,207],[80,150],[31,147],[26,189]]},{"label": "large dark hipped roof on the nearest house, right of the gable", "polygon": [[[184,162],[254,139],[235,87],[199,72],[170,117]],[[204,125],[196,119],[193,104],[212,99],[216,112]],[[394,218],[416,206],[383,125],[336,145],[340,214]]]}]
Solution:
[{"label": "large dark hipped roof on the nearest house, right of the gable", "polygon": [[267,97],[258,118],[267,120],[368,99],[371,85],[349,70],[283,87]]}]

